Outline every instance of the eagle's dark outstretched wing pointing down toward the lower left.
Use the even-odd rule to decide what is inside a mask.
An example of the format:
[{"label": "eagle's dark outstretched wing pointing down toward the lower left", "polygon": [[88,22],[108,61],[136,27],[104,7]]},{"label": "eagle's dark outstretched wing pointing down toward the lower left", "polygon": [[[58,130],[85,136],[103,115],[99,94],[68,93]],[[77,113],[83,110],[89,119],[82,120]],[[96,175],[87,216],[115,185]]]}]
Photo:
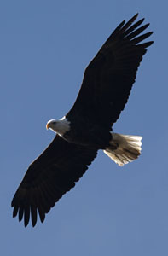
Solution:
[{"label": "eagle's dark outstretched wing pointing down toward the lower left", "polygon": [[13,217],[18,214],[19,221],[24,218],[26,226],[31,216],[32,226],[35,226],[39,213],[43,222],[45,213],[75,186],[96,154],[94,149],[67,143],[56,135],[43,154],[29,166],[20,183],[12,201]]}]

